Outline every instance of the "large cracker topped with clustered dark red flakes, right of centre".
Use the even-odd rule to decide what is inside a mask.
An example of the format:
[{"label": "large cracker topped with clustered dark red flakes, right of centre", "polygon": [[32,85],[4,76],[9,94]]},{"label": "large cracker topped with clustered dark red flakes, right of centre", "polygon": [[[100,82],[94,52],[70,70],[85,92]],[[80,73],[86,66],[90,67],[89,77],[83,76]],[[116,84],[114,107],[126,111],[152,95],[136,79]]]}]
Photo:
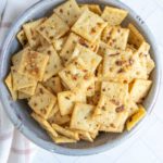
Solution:
[{"label": "large cracker topped with clustered dark red flakes, right of centre", "polygon": [[129,83],[136,72],[133,68],[135,63],[131,50],[108,49],[103,59],[102,76],[114,82]]}]

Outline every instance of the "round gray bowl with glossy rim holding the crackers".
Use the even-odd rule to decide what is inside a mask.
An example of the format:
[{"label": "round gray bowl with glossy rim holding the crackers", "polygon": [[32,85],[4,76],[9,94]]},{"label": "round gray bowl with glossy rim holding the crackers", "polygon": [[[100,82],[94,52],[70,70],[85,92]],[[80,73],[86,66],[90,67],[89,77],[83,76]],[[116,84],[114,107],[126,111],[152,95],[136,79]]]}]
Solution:
[{"label": "round gray bowl with glossy rim holding the crackers", "polygon": [[[63,2],[63,0],[42,0],[38,3],[34,4],[27,11],[24,12],[20,18],[13,23],[11,27],[4,45],[2,47],[1,53],[1,64],[0,64],[0,98],[3,104],[3,108],[9,115],[10,120],[14,124],[14,126],[28,139],[35,142],[37,146],[47,149],[48,151],[66,154],[66,155],[88,155],[95,154],[102,151],[106,151],[112,149],[113,147],[118,146],[121,142],[127,140],[130,136],[133,136],[141,126],[142,122],[139,123],[130,133],[124,131],[123,134],[100,134],[100,136],[95,140],[95,142],[77,142],[73,145],[55,145],[48,137],[46,131],[29,116],[30,110],[25,101],[12,101],[10,92],[5,87],[3,80],[9,73],[11,57],[13,53],[17,52],[21,49],[20,43],[17,42],[15,35],[20,30],[22,24],[29,20],[39,18],[45,15],[49,15],[52,13],[52,9]],[[146,23],[141,21],[141,18],[131,11],[125,4],[115,1],[115,0],[78,0],[78,2],[84,3],[99,3],[102,8],[104,5],[113,5],[122,9],[126,9],[129,11],[129,15],[124,22],[124,25],[127,25],[129,22],[135,24],[137,28],[143,34],[147,41],[151,45],[150,53],[155,61],[156,67],[154,68],[151,79],[153,80],[152,88],[145,101],[145,106],[147,109],[148,114],[150,114],[160,87],[161,74],[160,74],[160,62],[159,62],[159,51],[156,49],[155,40],[153,39],[151,33],[149,32]]]}]

